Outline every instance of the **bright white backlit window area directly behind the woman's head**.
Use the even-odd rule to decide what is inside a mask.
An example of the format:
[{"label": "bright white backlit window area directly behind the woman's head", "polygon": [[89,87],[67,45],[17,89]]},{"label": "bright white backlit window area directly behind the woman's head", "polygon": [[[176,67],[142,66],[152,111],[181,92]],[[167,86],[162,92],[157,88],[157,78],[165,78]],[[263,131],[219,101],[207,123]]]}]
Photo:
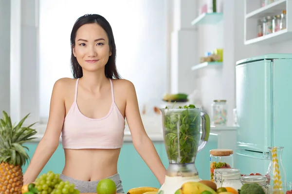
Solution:
[{"label": "bright white backlit window area directly behind the woman's head", "polygon": [[75,20],[88,13],[105,16],[110,22],[117,47],[118,71],[124,79],[134,83],[140,108],[150,100],[160,100],[168,84],[166,1],[79,2],[40,0],[40,116],[48,117],[54,82],[62,77],[72,77],[70,33]]}]

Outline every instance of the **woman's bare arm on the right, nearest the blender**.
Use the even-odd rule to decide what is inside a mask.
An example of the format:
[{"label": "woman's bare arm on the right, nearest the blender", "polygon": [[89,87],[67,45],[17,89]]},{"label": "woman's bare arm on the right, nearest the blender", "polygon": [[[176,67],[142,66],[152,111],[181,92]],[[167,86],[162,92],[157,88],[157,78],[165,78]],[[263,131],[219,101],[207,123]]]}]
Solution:
[{"label": "woman's bare arm on the right, nearest the blender", "polygon": [[132,135],[133,145],[162,185],[164,183],[166,169],[161,162],[161,159],[157,154],[157,151],[152,141],[150,140],[144,129],[139,111],[135,87],[130,81],[128,81],[127,85],[128,97],[126,102],[125,114]]}]

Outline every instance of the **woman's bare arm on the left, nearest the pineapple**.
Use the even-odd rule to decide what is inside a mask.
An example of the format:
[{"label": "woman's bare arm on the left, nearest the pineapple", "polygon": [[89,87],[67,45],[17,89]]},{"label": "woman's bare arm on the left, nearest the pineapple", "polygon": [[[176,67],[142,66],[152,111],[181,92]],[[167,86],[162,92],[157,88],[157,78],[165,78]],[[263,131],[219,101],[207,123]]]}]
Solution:
[{"label": "woman's bare arm on the left, nearest the pineapple", "polygon": [[34,156],[32,157],[32,160],[23,175],[23,184],[29,184],[35,181],[41,170],[52,157],[59,144],[65,115],[63,85],[63,79],[55,82],[51,97],[47,129],[43,138],[37,145]]}]

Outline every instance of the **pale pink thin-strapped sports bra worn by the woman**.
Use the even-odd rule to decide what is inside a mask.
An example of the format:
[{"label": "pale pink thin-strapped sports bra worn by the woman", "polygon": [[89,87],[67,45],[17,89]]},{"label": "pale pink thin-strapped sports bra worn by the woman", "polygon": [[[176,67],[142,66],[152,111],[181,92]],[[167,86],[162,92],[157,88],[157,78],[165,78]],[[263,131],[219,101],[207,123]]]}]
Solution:
[{"label": "pale pink thin-strapped sports bra worn by the woman", "polygon": [[102,118],[83,115],[76,102],[78,81],[75,86],[74,102],[65,117],[62,129],[64,149],[114,149],[123,146],[125,119],[114,102],[110,79],[112,103],[109,113]]}]

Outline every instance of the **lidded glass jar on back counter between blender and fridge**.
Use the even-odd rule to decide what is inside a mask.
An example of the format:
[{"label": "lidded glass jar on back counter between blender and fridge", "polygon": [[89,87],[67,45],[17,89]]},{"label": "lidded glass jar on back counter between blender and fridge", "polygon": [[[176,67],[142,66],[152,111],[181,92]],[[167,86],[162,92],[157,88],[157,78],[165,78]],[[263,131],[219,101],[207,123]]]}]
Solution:
[{"label": "lidded glass jar on back counter between blender and fridge", "polygon": [[226,100],[214,100],[212,107],[212,125],[226,125],[227,103]]}]

